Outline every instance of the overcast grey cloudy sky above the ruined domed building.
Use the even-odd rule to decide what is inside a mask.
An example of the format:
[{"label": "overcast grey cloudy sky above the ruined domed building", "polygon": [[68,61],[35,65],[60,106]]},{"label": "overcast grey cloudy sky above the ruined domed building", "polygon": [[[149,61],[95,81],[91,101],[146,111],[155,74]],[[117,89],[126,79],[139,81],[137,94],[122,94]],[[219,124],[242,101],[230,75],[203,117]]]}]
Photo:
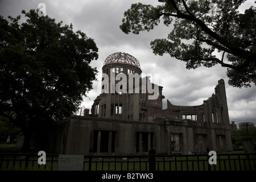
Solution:
[{"label": "overcast grey cloudy sky above the ruined domed building", "polygon": [[[124,34],[119,25],[122,23],[123,13],[132,3],[158,5],[157,0],[84,0],[84,1],[16,1],[0,0],[0,15],[7,19],[8,15],[16,17],[21,11],[37,9],[39,3],[46,4],[46,14],[55,18],[56,22],[63,20],[63,24],[73,24],[73,30],[81,30],[93,38],[99,49],[98,60],[93,60],[92,67],[97,67],[101,77],[102,65],[106,57],[114,52],[126,52],[139,60],[142,72],[158,73],[159,85],[163,86],[163,107],[167,99],[174,105],[201,105],[204,100],[212,96],[218,80],[225,80],[228,98],[230,122],[254,122],[256,126],[256,86],[251,88],[233,88],[228,85],[226,68],[216,65],[212,68],[200,67],[195,70],[185,68],[185,63],[168,55],[156,56],[152,53],[150,42],[156,38],[167,38],[170,27],[163,24],[150,32],[139,35]],[[243,12],[250,6],[255,6],[253,0],[246,1],[241,6]],[[21,21],[24,20],[22,16]],[[101,79],[99,79],[101,80]],[[94,81],[93,90],[84,98],[81,106],[91,107],[98,96],[99,81]]]}]

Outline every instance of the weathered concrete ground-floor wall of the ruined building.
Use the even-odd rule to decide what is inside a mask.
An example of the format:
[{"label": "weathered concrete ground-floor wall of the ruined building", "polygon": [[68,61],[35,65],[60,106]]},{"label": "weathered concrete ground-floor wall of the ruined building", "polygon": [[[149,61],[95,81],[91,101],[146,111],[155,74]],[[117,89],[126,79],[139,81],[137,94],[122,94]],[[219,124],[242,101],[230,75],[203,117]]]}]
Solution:
[{"label": "weathered concrete ground-floor wall of the ruined building", "polygon": [[[155,149],[156,154],[187,154],[188,151],[204,153],[207,146],[215,151],[229,151],[230,147],[232,149],[225,137],[221,139],[222,145],[216,142],[218,136],[225,136],[226,130],[210,129],[207,124],[189,119],[156,118],[155,122],[139,122],[73,116],[59,124],[64,130],[59,130],[60,132],[55,136],[57,139],[54,146],[57,153],[81,155],[89,155],[90,147],[97,147],[93,152],[94,155],[148,154],[151,147]],[[109,139],[99,137],[99,131],[101,134],[108,132],[105,136]],[[96,132],[97,137],[94,134]],[[173,150],[172,136],[179,138],[179,151]],[[102,140],[106,143],[104,152],[99,148],[104,147],[101,144]],[[200,144],[204,148],[200,148]]]}]

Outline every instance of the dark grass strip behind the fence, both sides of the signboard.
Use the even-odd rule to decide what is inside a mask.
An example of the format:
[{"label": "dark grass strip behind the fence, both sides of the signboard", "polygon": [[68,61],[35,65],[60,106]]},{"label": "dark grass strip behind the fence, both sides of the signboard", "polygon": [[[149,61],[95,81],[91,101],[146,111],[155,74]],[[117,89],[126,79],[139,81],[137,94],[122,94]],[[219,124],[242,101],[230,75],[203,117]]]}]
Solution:
[{"label": "dark grass strip behind the fence, both sides of the signboard", "polygon": [[[225,156],[226,157],[226,156]],[[228,157],[227,157],[228,158]],[[232,160],[217,160],[217,165],[210,165],[212,171],[247,171],[255,170],[255,162],[242,159],[237,160],[237,157],[232,158]],[[102,166],[102,162],[92,162],[92,171],[148,171],[149,162],[148,160],[141,160],[141,165],[139,165],[139,160],[130,159],[131,162],[119,161],[111,162],[105,161]],[[207,160],[203,157],[197,159],[189,159],[192,161],[186,161],[185,158],[175,159],[157,159],[156,160],[156,171],[208,171]],[[24,160],[5,161],[2,163],[0,170],[11,170],[11,171],[57,171],[57,161],[47,162],[46,165],[38,165],[37,159],[28,162],[27,168],[25,168]],[[89,170],[89,162],[84,162],[84,170]]]}]

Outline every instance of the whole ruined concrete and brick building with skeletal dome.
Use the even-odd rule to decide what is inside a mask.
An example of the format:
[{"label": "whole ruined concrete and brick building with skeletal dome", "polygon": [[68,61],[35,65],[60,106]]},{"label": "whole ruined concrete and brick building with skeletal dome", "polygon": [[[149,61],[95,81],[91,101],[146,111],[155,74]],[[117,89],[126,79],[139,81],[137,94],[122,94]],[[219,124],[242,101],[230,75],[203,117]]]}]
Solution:
[{"label": "whole ruined concrete and brick building with skeletal dome", "polygon": [[86,109],[84,116],[58,123],[52,150],[82,155],[148,154],[150,148],[156,154],[233,150],[224,80],[201,105],[177,106],[167,100],[163,109],[163,87],[141,74],[135,57],[109,55],[102,67],[102,93],[91,114]]}]

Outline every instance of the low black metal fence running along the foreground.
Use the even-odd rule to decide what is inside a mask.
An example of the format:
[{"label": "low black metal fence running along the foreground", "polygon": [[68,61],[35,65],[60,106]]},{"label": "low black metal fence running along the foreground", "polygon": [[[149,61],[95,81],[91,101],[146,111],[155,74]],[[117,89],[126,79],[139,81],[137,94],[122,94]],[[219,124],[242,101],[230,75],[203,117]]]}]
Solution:
[{"label": "low black metal fence running along the foreground", "polygon": [[[59,155],[46,155],[38,164],[37,154],[0,154],[0,170],[57,171]],[[208,155],[84,155],[84,171],[256,171],[256,154],[217,154],[216,164]]]}]

